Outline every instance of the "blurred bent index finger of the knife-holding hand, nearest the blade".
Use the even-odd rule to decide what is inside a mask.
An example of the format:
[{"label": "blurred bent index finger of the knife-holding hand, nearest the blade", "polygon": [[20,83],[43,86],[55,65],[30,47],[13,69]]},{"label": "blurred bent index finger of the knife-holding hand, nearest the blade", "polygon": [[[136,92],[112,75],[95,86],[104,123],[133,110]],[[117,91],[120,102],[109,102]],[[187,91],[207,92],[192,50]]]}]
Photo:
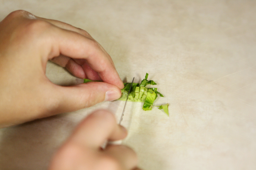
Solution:
[{"label": "blurred bent index finger of the knife-holding hand, nearest the blade", "polygon": [[98,110],[81,122],[70,141],[100,149],[106,140],[120,140],[126,136],[126,129],[116,123],[112,113]]}]

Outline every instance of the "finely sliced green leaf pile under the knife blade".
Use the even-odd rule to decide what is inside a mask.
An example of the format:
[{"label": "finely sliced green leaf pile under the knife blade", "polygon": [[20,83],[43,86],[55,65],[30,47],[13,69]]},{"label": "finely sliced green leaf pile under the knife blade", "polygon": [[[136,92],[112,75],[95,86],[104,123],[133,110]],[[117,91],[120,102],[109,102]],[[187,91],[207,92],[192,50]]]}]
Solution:
[{"label": "finely sliced green leaf pile under the knife blade", "polygon": [[[146,74],[145,79],[143,79],[140,84],[139,83],[132,84],[128,82],[124,83],[124,88],[121,89],[121,93],[122,93],[121,98],[118,100],[126,101],[129,89],[132,84],[132,88],[127,101],[144,102],[142,109],[151,110],[153,107],[153,103],[155,99],[158,97],[158,95],[160,95],[161,97],[163,97],[163,95],[157,91],[157,88],[146,88],[148,84],[156,85],[156,83],[153,80],[148,81],[147,79],[148,79],[148,73]],[[84,83],[87,83],[87,82],[92,82],[92,81],[88,79],[84,79]],[[167,103],[158,107],[159,109],[163,109],[163,111],[167,115],[169,115],[168,106],[169,105]]]}]

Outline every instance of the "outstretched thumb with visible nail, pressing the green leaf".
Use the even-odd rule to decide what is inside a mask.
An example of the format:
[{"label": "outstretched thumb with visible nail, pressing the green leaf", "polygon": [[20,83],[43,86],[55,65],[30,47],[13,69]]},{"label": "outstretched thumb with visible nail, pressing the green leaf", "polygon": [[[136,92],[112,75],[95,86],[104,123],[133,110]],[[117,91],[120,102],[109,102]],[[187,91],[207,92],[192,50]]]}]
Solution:
[{"label": "outstretched thumb with visible nail, pressing the green leaf", "polygon": [[69,87],[54,85],[53,93],[58,101],[55,113],[72,112],[121,97],[120,88],[106,82],[88,82]]}]

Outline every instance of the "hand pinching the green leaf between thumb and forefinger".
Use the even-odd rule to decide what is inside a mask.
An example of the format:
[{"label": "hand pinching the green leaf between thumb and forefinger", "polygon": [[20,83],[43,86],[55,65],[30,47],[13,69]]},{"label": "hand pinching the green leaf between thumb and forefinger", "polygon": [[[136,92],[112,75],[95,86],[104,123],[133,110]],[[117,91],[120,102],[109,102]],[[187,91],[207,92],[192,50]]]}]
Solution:
[{"label": "hand pinching the green leaf between thumb and forefinger", "polygon": [[[57,86],[45,76],[48,60],[103,82]],[[26,11],[0,22],[0,126],[115,100],[121,88],[111,57],[86,31]]]}]

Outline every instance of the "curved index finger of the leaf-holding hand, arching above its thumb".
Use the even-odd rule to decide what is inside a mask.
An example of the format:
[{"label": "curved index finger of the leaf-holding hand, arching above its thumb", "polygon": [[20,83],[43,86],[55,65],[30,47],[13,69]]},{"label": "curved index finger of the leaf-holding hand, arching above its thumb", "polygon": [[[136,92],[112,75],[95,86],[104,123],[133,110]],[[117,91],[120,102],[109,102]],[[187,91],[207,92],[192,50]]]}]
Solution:
[{"label": "curved index finger of the leaf-holding hand, arching above its thumb", "polygon": [[101,80],[123,88],[123,83],[112,64],[112,60],[101,50],[101,46],[92,39],[85,38],[81,34],[67,30],[54,31],[51,39],[54,48],[49,59],[60,54],[75,59],[86,59],[90,68],[98,73]]}]

